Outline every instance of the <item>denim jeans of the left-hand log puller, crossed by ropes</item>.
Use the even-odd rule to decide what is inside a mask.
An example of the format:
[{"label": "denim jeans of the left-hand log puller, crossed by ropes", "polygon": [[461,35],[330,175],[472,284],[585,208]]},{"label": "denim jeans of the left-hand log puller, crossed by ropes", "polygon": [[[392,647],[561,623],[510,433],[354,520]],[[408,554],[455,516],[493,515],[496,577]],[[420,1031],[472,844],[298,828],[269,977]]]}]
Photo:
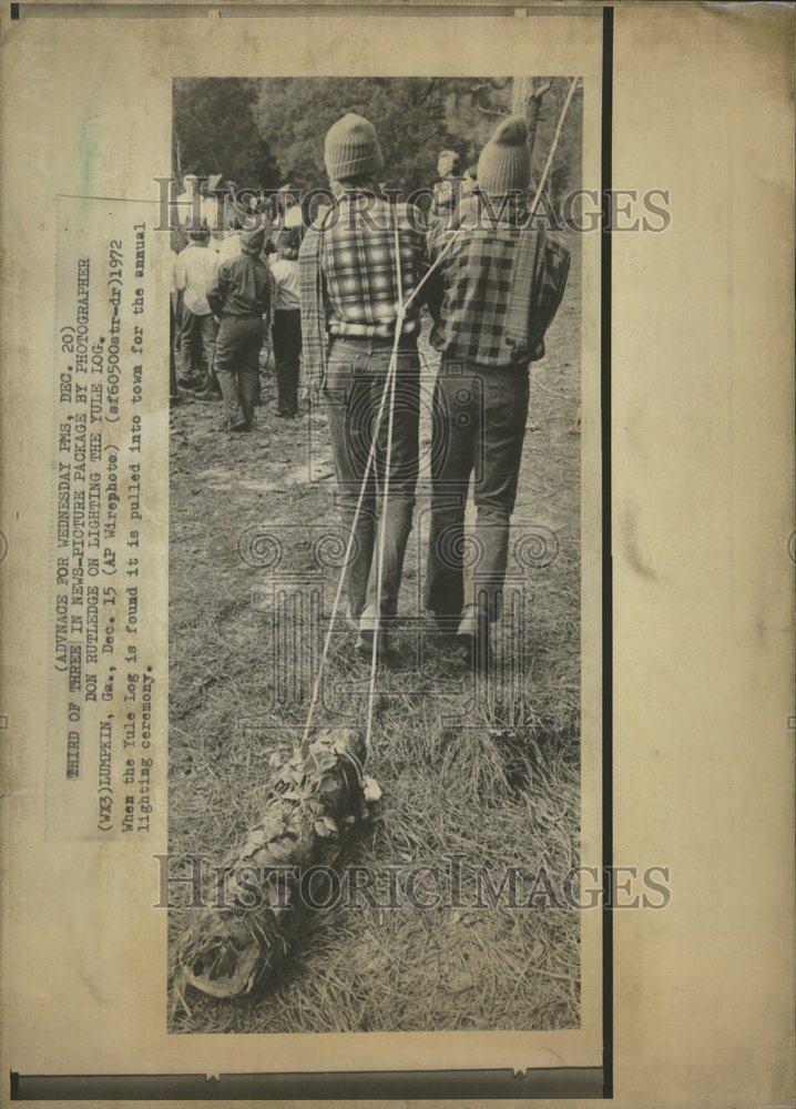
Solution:
[{"label": "denim jeans of the left-hand log puller, crossed by ropes", "polygon": [[[333,339],[325,395],[331,455],[337,475],[337,505],[350,535],[374,441],[376,417],[387,380],[392,345],[369,339]],[[374,464],[365,486],[346,567],[348,611],[363,629],[377,624],[378,552],[384,529],[384,574],[380,617],[389,620],[398,606],[404,556],[411,531],[418,474],[420,363],[415,343],[399,348],[396,369],[389,496],[384,510],[387,475],[389,393],[376,436]]]}]

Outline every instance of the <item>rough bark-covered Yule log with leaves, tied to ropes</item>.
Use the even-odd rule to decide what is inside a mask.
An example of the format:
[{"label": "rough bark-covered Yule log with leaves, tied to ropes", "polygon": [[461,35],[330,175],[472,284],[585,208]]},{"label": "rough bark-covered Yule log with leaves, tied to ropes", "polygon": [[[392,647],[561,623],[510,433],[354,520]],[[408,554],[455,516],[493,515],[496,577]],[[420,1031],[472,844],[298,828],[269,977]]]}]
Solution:
[{"label": "rough bark-covered Yule log with leaves, tied to ropes", "polygon": [[[299,876],[334,866],[367,820],[365,745],[349,729],[325,729],[306,757],[279,764],[262,821],[225,863],[213,905],[176,946],[177,974],[213,997],[259,991],[287,954],[302,917]],[[255,901],[256,904],[252,904]]]}]

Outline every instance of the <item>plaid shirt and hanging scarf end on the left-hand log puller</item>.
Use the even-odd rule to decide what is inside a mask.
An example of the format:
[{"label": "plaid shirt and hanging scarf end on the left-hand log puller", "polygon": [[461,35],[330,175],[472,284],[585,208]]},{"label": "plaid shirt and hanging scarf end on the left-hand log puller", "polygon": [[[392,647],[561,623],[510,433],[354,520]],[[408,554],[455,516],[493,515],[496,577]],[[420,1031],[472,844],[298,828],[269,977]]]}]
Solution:
[{"label": "plaid shirt and hanging scarf end on the left-hand log puller", "polygon": [[[406,301],[428,269],[417,208],[351,190],[304,237],[298,256],[302,356],[308,377],[316,381],[325,375],[329,336],[389,342],[395,335],[399,291],[392,218],[398,224]],[[410,305],[402,335],[419,332],[421,303],[419,295]]]}]

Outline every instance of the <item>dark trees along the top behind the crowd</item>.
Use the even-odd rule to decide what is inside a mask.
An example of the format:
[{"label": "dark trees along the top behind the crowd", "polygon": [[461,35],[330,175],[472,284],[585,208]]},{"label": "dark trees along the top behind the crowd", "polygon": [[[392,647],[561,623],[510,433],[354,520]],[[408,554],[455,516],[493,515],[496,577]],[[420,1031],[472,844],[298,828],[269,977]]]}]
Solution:
[{"label": "dark trees along the top behind the crowd", "polygon": [[[241,187],[327,184],[324,135],[345,112],[376,126],[385,181],[436,179],[441,150],[474,164],[499,119],[521,112],[541,173],[569,78],[181,78],[173,87],[172,173],[221,173]],[[550,177],[553,203],[581,183],[583,92],[568,113]]]}]

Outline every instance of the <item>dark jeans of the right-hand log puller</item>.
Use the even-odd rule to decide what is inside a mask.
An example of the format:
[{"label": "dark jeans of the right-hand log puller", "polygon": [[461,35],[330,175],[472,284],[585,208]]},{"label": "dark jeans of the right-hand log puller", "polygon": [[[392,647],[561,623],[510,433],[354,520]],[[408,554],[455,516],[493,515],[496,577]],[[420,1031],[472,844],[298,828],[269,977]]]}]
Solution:
[{"label": "dark jeans of the right-hand log puller", "polygon": [[[528,418],[528,369],[442,360],[433,394],[431,526],[426,607],[458,617],[474,606],[500,614]],[[474,470],[474,533],[465,540],[465,509]],[[471,581],[465,597],[465,561]]]}]

